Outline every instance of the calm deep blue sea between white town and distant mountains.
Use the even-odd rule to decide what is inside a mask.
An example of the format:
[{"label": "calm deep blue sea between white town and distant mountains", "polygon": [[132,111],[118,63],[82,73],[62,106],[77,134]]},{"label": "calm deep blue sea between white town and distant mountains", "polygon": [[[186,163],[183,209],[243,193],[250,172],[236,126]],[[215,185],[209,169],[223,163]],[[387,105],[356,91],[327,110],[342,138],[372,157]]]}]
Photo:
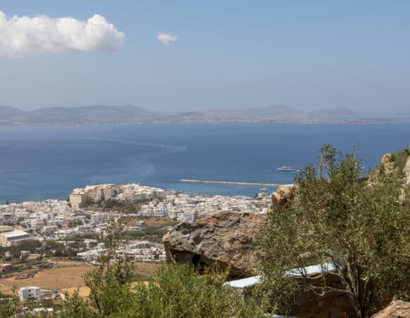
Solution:
[{"label": "calm deep blue sea between white town and distant mountains", "polygon": [[276,167],[317,163],[323,143],[342,151],[359,143],[364,165],[373,167],[410,145],[410,124],[1,127],[0,203],[66,199],[75,187],[105,182],[253,195],[259,187],[180,179],[293,182]]}]

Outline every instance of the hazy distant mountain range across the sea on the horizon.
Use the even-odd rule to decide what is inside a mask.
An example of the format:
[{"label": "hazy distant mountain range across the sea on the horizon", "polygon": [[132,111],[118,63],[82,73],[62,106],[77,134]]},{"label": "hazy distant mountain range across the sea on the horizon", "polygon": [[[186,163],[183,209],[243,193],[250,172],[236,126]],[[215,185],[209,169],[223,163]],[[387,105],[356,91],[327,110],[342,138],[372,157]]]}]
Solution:
[{"label": "hazy distant mountain range across the sea on the horizon", "polygon": [[132,105],[49,107],[19,110],[0,106],[0,125],[64,124],[228,124],[228,123],[336,123],[372,124],[410,122],[410,114],[368,114],[345,107],[303,112],[290,107],[269,106],[239,110],[197,112],[151,112]]}]

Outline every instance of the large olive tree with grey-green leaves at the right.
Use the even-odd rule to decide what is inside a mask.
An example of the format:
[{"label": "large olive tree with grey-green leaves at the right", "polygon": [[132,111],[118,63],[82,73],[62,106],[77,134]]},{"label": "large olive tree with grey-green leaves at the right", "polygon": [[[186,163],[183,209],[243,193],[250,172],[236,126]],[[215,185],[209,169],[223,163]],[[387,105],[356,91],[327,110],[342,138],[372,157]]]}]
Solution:
[{"label": "large olive tree with grey-green leaves at the right", "polygon": [[[355,155],[333,161],[328,154],[336,152],[324,151],[332,163],[327,177],[322,163],[319,172],[312,165],[300,170],[295,200],[275,211],[257,238],[262,290],[280,310],[288,310],[300,291],[345,295],[357,317],[369,317],[386,295],[409,291],[409,204],[396,175],[380,173],[369,182]],[[334,270],[308,276],[312,264]],[[288,275],[290,269],[300,278]]]}]

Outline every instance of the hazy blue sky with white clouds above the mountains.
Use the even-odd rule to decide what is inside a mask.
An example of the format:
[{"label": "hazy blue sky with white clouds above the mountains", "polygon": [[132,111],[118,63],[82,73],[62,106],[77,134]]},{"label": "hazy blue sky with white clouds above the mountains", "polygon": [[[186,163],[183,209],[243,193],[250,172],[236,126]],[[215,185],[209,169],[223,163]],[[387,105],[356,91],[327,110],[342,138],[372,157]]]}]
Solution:
[{"label": "hazy blue sky with white clouds above the mountains", "polygon": [[410,1],[0,0],[0,105],[410,112]]}]

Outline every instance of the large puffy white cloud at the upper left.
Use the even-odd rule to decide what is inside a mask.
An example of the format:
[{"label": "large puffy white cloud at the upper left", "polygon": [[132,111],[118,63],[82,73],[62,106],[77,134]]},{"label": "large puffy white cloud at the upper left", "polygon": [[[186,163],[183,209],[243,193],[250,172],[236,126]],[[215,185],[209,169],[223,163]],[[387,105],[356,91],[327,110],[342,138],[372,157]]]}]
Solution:
[{"label": "large puffy white cloud at the upper left", "polygon": [[95,14],[86,21],[48,16],[13,16],[0,11],[0,57],[69,51],[114,51],[124,33]]}]

